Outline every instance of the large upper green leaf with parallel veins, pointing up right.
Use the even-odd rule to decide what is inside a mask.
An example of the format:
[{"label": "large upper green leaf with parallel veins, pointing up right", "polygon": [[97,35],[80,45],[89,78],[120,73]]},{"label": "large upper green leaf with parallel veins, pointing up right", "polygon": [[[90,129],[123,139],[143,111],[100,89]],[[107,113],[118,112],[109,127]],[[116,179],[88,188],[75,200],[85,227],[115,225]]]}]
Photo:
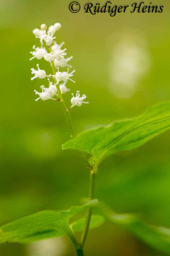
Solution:
[{"label": "large upper green leaf with parallel veins, pointing up right", "polygon": [[104,154],[139,147],[167,131],[169,127],[170,102],[164,102],[147,109],[137,118],[117,121],[107,127],[81,132],[62,145],[62,149],[85,151],[100,159]]}]

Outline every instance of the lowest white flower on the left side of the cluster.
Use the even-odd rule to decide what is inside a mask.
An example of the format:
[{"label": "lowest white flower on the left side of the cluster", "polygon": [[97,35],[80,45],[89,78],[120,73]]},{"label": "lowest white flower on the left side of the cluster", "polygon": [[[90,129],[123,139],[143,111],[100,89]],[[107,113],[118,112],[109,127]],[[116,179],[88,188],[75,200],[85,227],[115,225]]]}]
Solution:
[{"label": "lowest white flower on the left side of the cluster", "polygon": [[50,79],[48,79],[48,81],[49,81],[48,88],[45,88],[44,85],[41,85],[42,92],[37,92],[36,90],[34,90],[36,95],[39,95],[39,98],[36,99],[36,101],[39,99],[41,99],[43,101],[49,100],[49,99],[55,100],[55,99],[53,99],[53,96],[55,96],[57,94],[56,84],[53,84],[52,82],[50,82]]}]

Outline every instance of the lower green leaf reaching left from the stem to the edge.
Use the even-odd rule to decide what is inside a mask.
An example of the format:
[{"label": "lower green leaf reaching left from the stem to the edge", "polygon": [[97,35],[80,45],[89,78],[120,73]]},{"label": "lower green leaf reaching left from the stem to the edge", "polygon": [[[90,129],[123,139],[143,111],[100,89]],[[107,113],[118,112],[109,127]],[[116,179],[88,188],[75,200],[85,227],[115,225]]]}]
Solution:
[{"label": "lower green leaf reaching left from the stem to the edge", "polygon": [[76,212],[87,209],[88,207],[93,207],[96,204],[97,200],[92,200],[85,205],[74,206],[66,211],[42,211],[12,221],[0,228],[0,243],[20,241],[22,238],[24,240],[26,236],[29,236],[31,241],[33,241],[34,234],[36,235],[35,238],[40,237],[41,239],[54,235],[69,235],[69,219],[71,216],[76,214]]}]

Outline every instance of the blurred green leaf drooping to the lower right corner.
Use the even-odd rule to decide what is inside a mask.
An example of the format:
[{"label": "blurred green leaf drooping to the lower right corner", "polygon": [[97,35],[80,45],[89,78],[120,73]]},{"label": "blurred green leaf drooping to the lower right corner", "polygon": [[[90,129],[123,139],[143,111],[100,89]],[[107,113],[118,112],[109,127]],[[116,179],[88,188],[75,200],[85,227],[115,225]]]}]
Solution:
[{"label": "blurred green leaf drooping to the lower right corner", "polygon": [[116,214],[106,205],[99,207],[107,220],[125,228],[153,248],[170,253],[170,228],[148,225],[133,214]]}]

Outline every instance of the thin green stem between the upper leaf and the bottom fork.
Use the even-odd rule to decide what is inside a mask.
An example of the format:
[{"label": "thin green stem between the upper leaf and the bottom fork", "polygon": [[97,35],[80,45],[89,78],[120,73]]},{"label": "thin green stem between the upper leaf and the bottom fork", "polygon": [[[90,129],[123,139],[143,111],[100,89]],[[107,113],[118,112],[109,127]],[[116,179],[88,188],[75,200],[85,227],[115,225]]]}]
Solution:
[{"label": "thin green stem between the upper leaf and the bottom fork", "polygon": [[[90,172],[89,198],[88,198],[89,201],[94,199],[96,173],[97,173],[97,164],[96,164],[96,159],[94,159],[93,168]],[[83,232],[82,232],[82,235],[81,235],[81,246],[82,246],[82,248],[85,244],[87,234],[89,232],[91,217],[92,217],[92,207],[90,207],[87,210],[86,217],[85,217],[85,226],[84,226],[84,229],[83,229]]]}]

